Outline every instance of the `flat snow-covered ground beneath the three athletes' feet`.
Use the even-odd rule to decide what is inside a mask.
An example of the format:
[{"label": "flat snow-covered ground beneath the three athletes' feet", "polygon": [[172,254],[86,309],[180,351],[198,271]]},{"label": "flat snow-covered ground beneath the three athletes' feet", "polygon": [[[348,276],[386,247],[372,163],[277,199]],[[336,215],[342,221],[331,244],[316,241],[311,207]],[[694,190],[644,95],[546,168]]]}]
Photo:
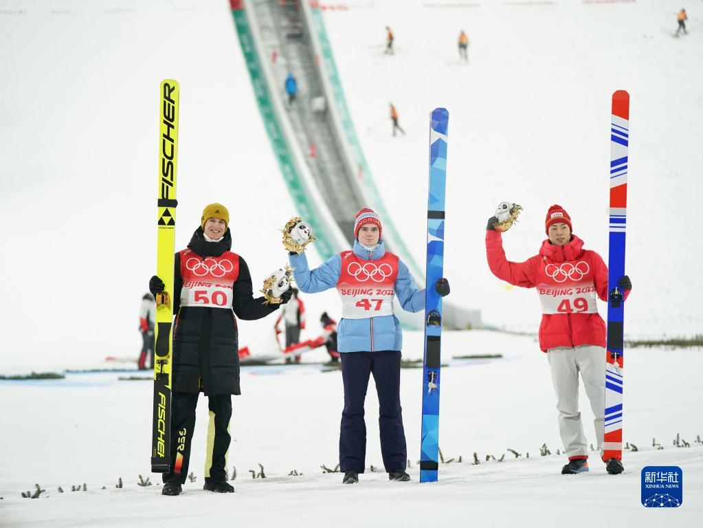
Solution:
[{"label": "flat snow-covered ground beneath the three athletes' feet", "polygon": [[[419,349],[421,342],[420,333],[406,335],[408,350]],[[477,331],[469,338],[446,333],[445,342],[450,352],[444,361],[451,366],[442,371],[440,446],[445,460],[461,456],[462,463],[441,465],[437,484],[418,482],[418,369],[404,369],[401,378],[413,482],[388,482],[382,472],[373,382],[366,404],[366,463],[381,469],[367,471],[350,487],[341,484],[340,473],[323,474],[320,468],[337,464],[340,372],[321,372],[314,365],[258,367],[244,369],[243,395],[234,400],[229,461],[238,472],[236,494],[213,496],[202,490],[207,406],[201,401],[191,460],[197,479],[178,498],[160,496],[157,485],[136,484],[139,474],[158,480],[149,474],[150,382],[117,381],[115,373],[0,382],[4,430],[12,432],[2,437],[0,526],[146,526],[162,520],[164,511],[188,524],[264,527],[593,527],[606,518],[609,524],[631,526],[699,524],[703,446],[693,440],[703,434],[695,397],[703,369],[700,350],[637,349],[629,354],[624,431],[626,441],[640,451],[626,451],[623,475],[607,475],[595,457],[590,472],[567,476],[560,475],[565,457],[555,454],[561,446],[549,368],[531,337]],[[503,359],[451,359],[477,353],[502,353]],[[324,359],[323,353],[308,358]],[[581,408],[586,410],[586,437],[593,442],[593,417],[585,400]],[[672,446],[677,433],[692,447]],[[664,449],[655,450],[652,438]],[[539,455],[544,443],[552,456]],[[516,459],[508,449],[522,456]],[[480,465],[472,465],[474,452]],[[503,454],[503,463],[485,461],[486,455]],[[259,463],[266,479],[252,479],[248,472],[259,472]],[[645,465],[683,469],[684,497],[678,510],[655,513],[640,505],[640,470]],[[292,470],[303,475],[288,476]],[[123,489],[115,489],[119,477]],[[84,482],[85,493],[70,491]],[[20,497],[35,483],[46,489],[46,496]]]}]

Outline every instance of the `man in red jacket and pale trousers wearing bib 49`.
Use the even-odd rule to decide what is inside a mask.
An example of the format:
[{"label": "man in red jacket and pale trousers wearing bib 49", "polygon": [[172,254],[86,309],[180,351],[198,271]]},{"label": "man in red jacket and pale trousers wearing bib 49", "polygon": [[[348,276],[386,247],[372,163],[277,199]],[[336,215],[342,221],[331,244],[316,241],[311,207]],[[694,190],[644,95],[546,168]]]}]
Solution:
[{"label": "man in red jacket and pale trousers wearing bib 49", "polygon": [[[501,227],[491,217],[486,228],[489,268],[501,280],[522,288],[536,288],[542,304],[539,347],[547,353],[557,396],[559,432],[569,456],[562,474],[588,471],[588,448],[579,412],[579,372],[595,420],[595,437],[602,456],[605,417],[605,323],[598,315],[596,297],[607,301],[608,269],[603,259],[583,249],[572,233],[569,214],[553,205],[545,219],[547,240],[538,255],[525,262],[505,259]],[[628,276],[618,285],[625,297],[632,289]],[[607,462],[607,472],[623,471],[620,461]]]}]

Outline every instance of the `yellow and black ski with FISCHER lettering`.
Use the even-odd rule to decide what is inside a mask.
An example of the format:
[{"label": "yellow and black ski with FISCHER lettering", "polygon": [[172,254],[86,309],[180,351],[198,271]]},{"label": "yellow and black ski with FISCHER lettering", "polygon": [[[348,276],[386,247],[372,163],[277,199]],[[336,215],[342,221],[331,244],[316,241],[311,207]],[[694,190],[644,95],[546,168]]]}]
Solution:
[{"label": "yellow and black ski with FISCHER lettering", "polygon": [[165,290],[156,296],[154,414],[151,470],[166,473],[171,468],[171,359],[174,264],[176,245],[176,159],[178,153],[179,84],[161,82],[159,100],[159,177],[156,274]]}]

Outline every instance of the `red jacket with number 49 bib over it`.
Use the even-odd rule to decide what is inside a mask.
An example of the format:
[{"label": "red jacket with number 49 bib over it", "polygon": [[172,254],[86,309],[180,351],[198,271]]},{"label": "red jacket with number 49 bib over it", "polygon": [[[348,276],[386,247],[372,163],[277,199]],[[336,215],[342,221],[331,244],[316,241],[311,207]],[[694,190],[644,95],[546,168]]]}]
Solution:
[{"label": "red jacket with number 49 bib over it", "polygon": [[[542,304],[539,347],[605,347],[605,323],[596,296],[607,301],[608,269],[595,251],[584,250],[572,236],[563,246],[544,240],[539,254],[525,262],[505,259],[498,231],[486,231],[486,257],[493,274],[522,288],[536,288]],[[627,297],[629,291],[625,292]]]}]

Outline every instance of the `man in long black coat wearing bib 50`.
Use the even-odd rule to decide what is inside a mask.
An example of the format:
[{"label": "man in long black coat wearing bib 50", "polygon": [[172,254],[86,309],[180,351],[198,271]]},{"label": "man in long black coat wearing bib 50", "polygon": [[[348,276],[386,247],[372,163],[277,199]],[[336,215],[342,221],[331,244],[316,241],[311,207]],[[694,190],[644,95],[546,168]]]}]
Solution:
[{"label": "man in long black coat wearing bib 50", "polygon": [[[229,213],[220,204],[205,207],[201,226],[188,249],[176,253],[172,366],[172,469],[163,474],[164,495],[178,495],[188,475],[195,406],[199,392],[208,397],[209,426],[205,457],[205,489],[234,491],[226,482],[232,394],[241,394],[235,315],[244,320],[266,317],[278,304],[254,299],[252,278],[242,257],[231,252]],[[153,276],[149,289],[165,288]],[[283,294],[290,299],[290,290]]]}]

